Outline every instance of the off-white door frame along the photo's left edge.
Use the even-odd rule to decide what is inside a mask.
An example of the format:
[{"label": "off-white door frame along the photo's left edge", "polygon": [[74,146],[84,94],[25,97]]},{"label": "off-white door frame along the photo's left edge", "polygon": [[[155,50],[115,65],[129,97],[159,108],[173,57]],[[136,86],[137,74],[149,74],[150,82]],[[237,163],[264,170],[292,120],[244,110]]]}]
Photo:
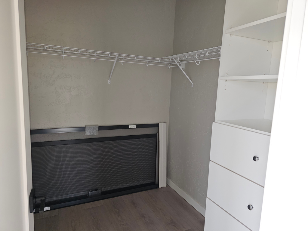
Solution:
[{"label": "off-white door frame along the photo's left edge", "polygon": [[33,231],[30,119],[23,0],[0,1],[0,230]]}]

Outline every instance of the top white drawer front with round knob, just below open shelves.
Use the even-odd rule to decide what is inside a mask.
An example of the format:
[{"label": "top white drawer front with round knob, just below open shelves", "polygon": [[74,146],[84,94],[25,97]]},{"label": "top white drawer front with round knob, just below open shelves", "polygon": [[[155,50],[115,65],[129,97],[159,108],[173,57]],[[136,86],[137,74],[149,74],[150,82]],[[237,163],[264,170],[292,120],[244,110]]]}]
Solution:
[{"label": "top white drawer front with round knob, just below open shelves", "polygon": [[210,160],[264,186],[269,145],[270,136],[213,123]]}]

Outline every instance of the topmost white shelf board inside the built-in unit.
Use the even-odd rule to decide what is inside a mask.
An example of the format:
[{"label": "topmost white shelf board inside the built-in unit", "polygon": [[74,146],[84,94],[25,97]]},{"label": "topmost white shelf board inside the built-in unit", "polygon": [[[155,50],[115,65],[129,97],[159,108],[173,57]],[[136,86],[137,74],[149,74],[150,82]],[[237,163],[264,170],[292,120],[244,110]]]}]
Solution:
[{"label": "topmost white shelf board inside the built-in unit", "polygon": [[225,33],[278,42],[282,41],[285,21],[286,12],[228,29]]}]

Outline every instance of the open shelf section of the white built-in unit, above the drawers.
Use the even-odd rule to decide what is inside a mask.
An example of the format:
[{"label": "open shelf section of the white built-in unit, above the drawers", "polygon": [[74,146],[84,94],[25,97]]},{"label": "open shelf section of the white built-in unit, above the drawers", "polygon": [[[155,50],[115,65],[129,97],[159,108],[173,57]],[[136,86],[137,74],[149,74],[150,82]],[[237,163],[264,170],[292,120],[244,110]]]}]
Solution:
[{"label": "open shelf section of the white built-in unit, above the drawers", "polygon": [[[229,2],[226,4],[226,10],[230,4],[241,5],[241,1]],[[244,24],[240,23],[239,15],[243,14],[240,9],[232,15],[231,11],[234,12],[235,9],[230,6],[230,12],[226,12],[216,122],[270,134],[269,120],[273,117],[286,19],[285,11],[277,14],[279,10],[283,11],[282,5],[286,5],[282,2],[286,1],[262,3],[270,6],[266,10],[262,8],[263,12],[259,10],[260,6],[251,8],[251,15],[244,14],[243,21],[247,22]],[[242,5],[245,4],[248,5]],[[275,8],[276,12],[271,10]],[[258,19],[257,13],[260,13],[260,16],[273,15]],[[249,22],[249,17],[257,20]]]}]

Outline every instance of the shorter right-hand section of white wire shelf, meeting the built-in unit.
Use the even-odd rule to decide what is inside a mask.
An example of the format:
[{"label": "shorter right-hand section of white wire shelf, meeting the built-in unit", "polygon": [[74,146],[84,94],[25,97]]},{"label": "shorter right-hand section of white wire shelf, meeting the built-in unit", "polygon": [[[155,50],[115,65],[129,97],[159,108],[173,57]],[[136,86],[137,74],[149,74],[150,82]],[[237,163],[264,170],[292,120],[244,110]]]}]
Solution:
[{"label": "shorter right-hand section of white wire shelf, meeting the built-in unit", "polygon": [[179,55],[171,55],[164,57],[164,59],[176,59],[180,63],[196,62],[196,64],[199,65],[200,61],[203,60],[220,59],[220,54],[221,54],[221,46],[203,49],[200,51],[192,51]]}]

